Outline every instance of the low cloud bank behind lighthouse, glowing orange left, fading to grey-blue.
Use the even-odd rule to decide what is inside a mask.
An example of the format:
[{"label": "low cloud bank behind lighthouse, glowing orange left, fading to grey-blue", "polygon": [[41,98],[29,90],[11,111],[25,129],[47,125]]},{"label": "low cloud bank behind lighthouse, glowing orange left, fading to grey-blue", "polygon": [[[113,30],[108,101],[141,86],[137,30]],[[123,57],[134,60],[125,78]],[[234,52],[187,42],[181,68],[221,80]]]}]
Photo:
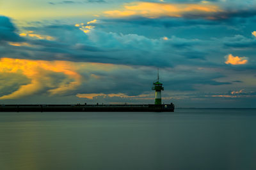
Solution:
[{"label": "low cloud bank behind lighthouse, glowing orange left, fading to grey-blue", "polygon": [[[163,69],[161,80],[166,89],[195,90],[198,85],[225,85],[215,81],[220,74],[185,66]],[[179,76],[177,76],[179,73]],[[44,96],[121,97],[123,99],[149,99],[155,69],[145,66],[125,66],[93,62],[70,62],[61,60],[28,60],[2,58],[0,60],[0,99],[19,99],[42,94]],[[24,81],[20,81],[22,78]],[[11,81],[12,80],[12,81]],[[25,81],[26,80],[26,81]],[[122,81],[120,81],[122,80]],[[4,83],[8,82],[8,83]],[[102,83],[104,82],[104,83]],[[148,96],[150,94],[150,96]],[[115,98],[118,100],[119,98]]]}]

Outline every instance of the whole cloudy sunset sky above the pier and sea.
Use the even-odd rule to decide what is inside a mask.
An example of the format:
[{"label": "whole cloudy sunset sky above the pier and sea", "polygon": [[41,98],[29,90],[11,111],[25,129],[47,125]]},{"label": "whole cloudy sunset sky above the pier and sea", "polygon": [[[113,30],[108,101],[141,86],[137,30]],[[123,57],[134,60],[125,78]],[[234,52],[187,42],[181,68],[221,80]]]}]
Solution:
[{"label": "whole cloudy sunset sky above the pier and sea", "polygon": [[256,0],[1,0],[0,104],[256,108]]}]

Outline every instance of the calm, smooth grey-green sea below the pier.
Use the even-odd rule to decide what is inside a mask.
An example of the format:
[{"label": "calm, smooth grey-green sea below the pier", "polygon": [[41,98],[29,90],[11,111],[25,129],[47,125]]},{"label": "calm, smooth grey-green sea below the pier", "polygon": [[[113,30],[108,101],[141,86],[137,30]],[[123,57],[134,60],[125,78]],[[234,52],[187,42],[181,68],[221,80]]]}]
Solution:
[{"label": "calm, smooth grey-green sea below the pier", "polygon": [[256,169],[256,109],[2,112],[0,169]]}]

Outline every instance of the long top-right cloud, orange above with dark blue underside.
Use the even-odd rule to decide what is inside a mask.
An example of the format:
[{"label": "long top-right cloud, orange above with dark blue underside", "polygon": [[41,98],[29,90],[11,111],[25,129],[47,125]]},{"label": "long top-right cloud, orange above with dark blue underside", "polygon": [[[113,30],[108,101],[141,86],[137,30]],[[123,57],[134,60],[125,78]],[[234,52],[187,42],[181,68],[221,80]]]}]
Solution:
[{"label": "long top-right cloud, orange above with dark blue underside", "polygon": [[[122,8],[104,11],[109,24],[120,22],[151,27],[182,27],[195,25],[228,25],[237,29],[256,15],[254,2],[242,1],[172,1],[133,2]],[[254,23],[254,22],[253,22]],[[236,25],[236,27],[234,27]]]}]

